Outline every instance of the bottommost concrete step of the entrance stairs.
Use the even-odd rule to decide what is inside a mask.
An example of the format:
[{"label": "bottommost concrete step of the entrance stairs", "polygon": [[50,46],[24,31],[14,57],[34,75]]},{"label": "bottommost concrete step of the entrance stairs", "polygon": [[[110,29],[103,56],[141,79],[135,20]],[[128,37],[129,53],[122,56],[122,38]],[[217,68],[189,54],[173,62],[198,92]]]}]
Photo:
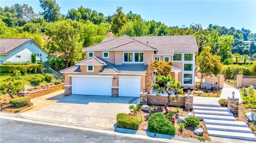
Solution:
[{"label": "bottommost concrete step of the entrance stairs", "polygon": [[216,130],[210,130],[210,129],[207,129],[207,131],[210,136],[214,136],[214,137],[226,137],[226,138],[232,138],[232,139],[244,139],[244,140],[256,141],[256,137],[252,133],[216,131]]}]

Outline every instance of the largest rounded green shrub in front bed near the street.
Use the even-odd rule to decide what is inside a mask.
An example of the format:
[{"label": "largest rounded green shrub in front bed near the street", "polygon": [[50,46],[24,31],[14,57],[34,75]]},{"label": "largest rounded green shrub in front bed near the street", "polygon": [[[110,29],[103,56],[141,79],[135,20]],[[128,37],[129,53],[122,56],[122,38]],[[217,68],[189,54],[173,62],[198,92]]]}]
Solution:
[{"label": "largest rounded green shrub in front bed near the street", "polygon": [[166,135],[175,135],[176,132],[174,125],[168,121],[161,112],[157,112],[149,117],[148,129],[152,133],[161,133]]}]

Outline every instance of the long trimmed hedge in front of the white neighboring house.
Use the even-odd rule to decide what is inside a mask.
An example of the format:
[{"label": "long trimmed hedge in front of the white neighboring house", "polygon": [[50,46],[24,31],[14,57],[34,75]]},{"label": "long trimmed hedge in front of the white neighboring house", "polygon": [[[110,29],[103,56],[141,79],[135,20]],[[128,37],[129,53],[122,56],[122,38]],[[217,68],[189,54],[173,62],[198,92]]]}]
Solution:
[{"label": "long trimmed hedge in front of the white neighboring house", "polygon": [[0,72],[20,71],[22,73],[36,73],[44,69],[44,64],[29,64],[29,65],[0,65]]}]

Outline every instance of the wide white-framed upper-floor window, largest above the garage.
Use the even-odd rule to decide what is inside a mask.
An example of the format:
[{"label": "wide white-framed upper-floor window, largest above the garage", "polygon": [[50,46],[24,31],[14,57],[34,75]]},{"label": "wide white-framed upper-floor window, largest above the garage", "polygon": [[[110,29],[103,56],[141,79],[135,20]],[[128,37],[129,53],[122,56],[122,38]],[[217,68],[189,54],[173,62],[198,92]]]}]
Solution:
[{"label": "wide white-framed upper-floor window, largest above the garage", "polygon": [[142,63],[144,62],[144,53],[127,52],[124,53],[124,63]]}]

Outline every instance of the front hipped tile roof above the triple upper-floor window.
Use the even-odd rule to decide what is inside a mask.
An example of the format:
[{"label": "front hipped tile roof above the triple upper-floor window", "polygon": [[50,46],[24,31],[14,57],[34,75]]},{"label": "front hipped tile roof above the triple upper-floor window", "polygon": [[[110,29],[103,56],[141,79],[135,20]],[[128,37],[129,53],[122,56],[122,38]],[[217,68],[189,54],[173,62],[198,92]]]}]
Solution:
[{"label": "front hipped tile roof above the triple upper-floor window", "polygon": [[150,45],[146,45],[145,43],[142,43],[128,35],[122,35],[120,37],[111,38],[108,41],[104,41],[102,43],[98,43],[96,45],[92,45],[89,47],[83,48],[83,50],[88,49],[102,49],[102,50],[110,50],[111,49],[149,49],[157,51],[154,47],[151,47]]}]

